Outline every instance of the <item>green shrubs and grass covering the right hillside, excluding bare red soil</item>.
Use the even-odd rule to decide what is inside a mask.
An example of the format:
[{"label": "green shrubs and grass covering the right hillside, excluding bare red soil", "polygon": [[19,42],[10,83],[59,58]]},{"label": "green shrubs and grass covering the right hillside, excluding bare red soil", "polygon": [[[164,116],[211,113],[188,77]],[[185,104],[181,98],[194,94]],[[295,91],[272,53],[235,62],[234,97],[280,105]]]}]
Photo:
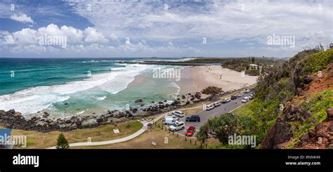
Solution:
[{"label": "green shrubs and grass covering the right hillside, excluding bare red soil", "polygon": [[[296,54],[282,66],[266,67],[254,89],[256,98],[233,112],[236,116],[247,117],[251,121],[245,124],[249,126],[237,127],[237,134],[256,135],[256,142],[261,143],[279,117],[279,120],[290,127],[288,130],[294,135],[294,142],[297,142],[299,135],[325,119],[325,110],[333,107],[333,91],[320,91],[305,102],[299,102],[296,104],[295,114],[288,112],[291,102],[300,91],[306,91],[306,77],[317,77],[318,72],[325,70],[332,62],[333,49],[320,51],[313,48]],[[311,117],[302,116],[306,111],[311,112]],[[289,119],[288,115],[296,116]],[[222,147],[230,148],[226,144]]]}]

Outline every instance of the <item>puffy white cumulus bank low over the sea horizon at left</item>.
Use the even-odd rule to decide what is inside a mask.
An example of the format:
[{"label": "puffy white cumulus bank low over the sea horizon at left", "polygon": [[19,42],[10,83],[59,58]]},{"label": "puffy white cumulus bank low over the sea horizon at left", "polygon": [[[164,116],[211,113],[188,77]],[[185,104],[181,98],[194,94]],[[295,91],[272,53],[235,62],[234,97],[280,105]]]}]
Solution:
[{"label": "puffy white cumulus bank low over the sea horizon at left", "polygon": [[[39,37],[49,36],[66,36],[67,46],[50,46],[39,45]],[[37,57],[57,57],[61,55],[65,57],[110,57],[116,56],[155,56],[158,53],[171,55],[176,53],[198,53],[200,50],[192,47],[176,47],[169,41],[167,46],[151,47],[145,39],[141,39],[137,44],[126,44],[120,42],[115,34],[109,35],[111,39],[107,39],[104,34],[98,32],[93,27],[87,27],[84,30],[74,27],[50,24],[39,29],[25,28],[18,32],[0,32],[1,52],[4,55],[35,55]],[[105,43],[116,40],[118,46],[110,46]]]}]

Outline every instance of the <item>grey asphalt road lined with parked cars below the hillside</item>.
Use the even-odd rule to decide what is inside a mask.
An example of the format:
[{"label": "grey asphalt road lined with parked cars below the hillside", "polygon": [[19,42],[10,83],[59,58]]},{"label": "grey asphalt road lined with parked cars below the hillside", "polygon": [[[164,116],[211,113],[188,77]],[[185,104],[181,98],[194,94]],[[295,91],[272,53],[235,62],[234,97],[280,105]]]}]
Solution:
[{"label": "grey asphalt road lined with parked cars below the hillside", "polygon": [[200,122],[186,122],[185,117],[180,118],[178,121],[185,122],[185,129],[177,131],[177,133],[185,135],[185,132],[189,126],[195,126],[195,128],[198,131],[200,126],[202,126],[202,124],[206,123],[208,121],[208,119],[211,119],[211,118],[221,115],[221,114],[228,113],[232,110],[235,110],[237,107],[244,105],[244,103],[242,102],[242,98],[244,98],[245,96],[249,96],[251,93],[242,93],[242,94],[243,94],[242,97],[237,98],[235,100],[231,100],[230,102],[227,102],[227,103],[222,103],[220,106],[215,107],[213,110],[202,111],[202,112],[197,112],[195,114],[191,114],[191,115],[199,115]]}]

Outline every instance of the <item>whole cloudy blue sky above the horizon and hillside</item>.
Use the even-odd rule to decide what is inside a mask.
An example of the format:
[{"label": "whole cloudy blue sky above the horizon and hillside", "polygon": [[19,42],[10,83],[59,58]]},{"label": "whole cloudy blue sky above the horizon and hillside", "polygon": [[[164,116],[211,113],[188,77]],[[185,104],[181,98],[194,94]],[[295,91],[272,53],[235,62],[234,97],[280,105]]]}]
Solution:
[{"label": "whole cloudy blue sky above the horizon and hillside", "polygon": [[0,56],[284,58],[333,42],[332,26],[329,0],[0,1]]}]

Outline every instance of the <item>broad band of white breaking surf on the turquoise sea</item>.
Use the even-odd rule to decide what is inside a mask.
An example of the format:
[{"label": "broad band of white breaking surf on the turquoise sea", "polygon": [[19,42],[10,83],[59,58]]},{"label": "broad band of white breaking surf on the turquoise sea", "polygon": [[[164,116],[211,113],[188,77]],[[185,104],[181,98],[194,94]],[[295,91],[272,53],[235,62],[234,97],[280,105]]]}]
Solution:
[{"label": "broad band of white breaking surf on the turquoise sea", "polygon": [[[91,88],[102,89],[115,94],[124,90],[134,77],[148,65],[125,65],[105,74],[92,74],[89,79],[72,81],[54,86],[38,86],[17,91],[9,95],[0,95],[0,110],[15,109],[23,115],[48,109],[54,102],[70,99],[71,94]],[[102,97],[103,98],[103,97]],[[102,99],[100,98],[100,99]]]}]

